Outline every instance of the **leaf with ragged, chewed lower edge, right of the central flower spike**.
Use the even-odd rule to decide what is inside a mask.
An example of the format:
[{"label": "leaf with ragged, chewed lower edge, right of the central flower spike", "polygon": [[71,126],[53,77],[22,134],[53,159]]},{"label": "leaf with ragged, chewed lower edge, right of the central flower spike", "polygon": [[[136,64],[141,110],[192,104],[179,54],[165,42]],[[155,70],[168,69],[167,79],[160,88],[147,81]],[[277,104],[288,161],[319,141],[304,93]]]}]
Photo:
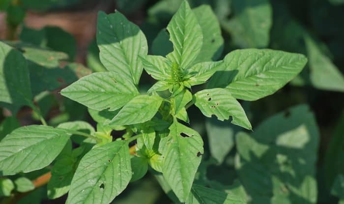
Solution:
[{"label": "leaf with ragged, chewed lower edge, right of the central flower spike", "polygon": [[195,105],[206,117],[215,115],[219,120],[228,120],[231,123],[251,130],[252,126],[240,103],[226,88],[212,88],[201,90],[194,95]]}]

